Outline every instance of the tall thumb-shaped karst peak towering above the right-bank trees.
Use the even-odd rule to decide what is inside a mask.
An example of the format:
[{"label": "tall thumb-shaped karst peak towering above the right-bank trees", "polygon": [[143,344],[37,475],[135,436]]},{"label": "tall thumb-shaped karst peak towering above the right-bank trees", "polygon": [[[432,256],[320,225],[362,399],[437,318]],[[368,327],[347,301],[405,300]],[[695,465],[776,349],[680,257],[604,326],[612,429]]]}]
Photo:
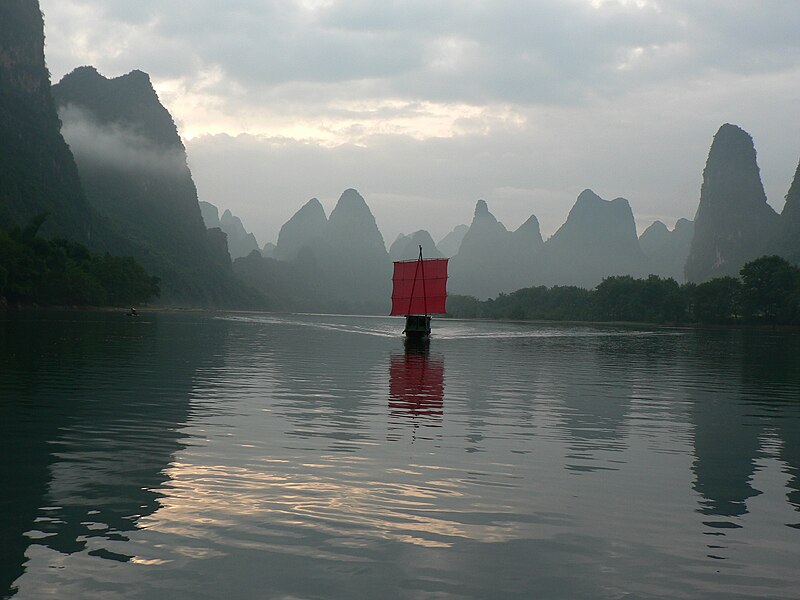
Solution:
[{"label": "tall thumb-shaped karst peak towering above the right-bank trees", "polygon": [[779,218],[767,204],[753,138],[726,123],[714,136],[703,171],[686,279],[736,276],[769,248]]}]

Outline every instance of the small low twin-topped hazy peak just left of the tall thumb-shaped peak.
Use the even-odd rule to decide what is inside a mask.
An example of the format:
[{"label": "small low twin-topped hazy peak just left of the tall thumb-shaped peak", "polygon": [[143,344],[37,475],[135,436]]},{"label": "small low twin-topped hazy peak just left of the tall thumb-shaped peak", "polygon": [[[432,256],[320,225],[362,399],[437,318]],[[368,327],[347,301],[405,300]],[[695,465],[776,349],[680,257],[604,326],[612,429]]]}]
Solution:
[{"label": "small low twin-topped hazy peak just left of the tall thumb-shaped peak", "polygon": [[639,236],[639,246],[647,257],[648,273],[683,283],[693,237],[694,223],[688,219],[678,219],[672,231],[661,221],[645,229]]}]

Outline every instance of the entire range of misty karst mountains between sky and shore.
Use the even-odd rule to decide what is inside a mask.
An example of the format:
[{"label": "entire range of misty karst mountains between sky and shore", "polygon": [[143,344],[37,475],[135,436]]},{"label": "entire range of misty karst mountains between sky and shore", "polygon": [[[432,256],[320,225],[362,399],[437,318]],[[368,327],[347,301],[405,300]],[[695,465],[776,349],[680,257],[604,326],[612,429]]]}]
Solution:
[{"label": "entire range of misty karst mountains between sky and shore", "polygon": [[161,279],[164,304],[386,312],[392,260],[413,259],[420,246],[452,259],[451,293],[481,299],[592,288],[612,275],[703,282],[768,253],[800,260],[800,165],[778,214],[751,136],[732,124],[714,136],[694,221],[672,230],[655,222],[637,237],[627,199],[586,189],[547,240],[535,214],[509,231],[477,200],[470,224],[438,244],[418,230],[387,251],[367,201],[347,189],[330,215],[309,200],[261,249],[230,210],[220,216],[199,201],[174,119],[146,73],[106,78],[84,66],[51,88],[36,3],[9,0],[0,18],[0,227],[48,212],[43,234],[135,257]]}]

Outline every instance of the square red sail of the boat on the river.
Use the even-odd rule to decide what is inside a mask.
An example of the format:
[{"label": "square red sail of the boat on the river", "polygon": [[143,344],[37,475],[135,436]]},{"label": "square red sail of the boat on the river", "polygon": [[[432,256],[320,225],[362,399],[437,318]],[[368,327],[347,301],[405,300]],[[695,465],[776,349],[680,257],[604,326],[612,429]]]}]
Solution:
[{"label": "square red sail of the boat on the river", "polygon": [[393,315],[438,315],[447,312],[447,258],[394,263]]}]

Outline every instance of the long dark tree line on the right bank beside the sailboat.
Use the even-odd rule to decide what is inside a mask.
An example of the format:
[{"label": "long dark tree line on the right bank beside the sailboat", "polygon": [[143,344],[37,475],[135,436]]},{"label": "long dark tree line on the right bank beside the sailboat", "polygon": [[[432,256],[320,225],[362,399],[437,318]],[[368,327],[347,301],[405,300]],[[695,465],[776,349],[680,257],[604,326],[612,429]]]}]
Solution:
[{"label": "long dark tree line on the right bank beside the sailboat", "polygon": [[463,318],[797,325],[800,268],[779,256],[763,256],[744,265],[738,278],[680,285],[656,275],[615,276],[594,290],[540,286],[486,301],[451,296],[448,313]]}]

